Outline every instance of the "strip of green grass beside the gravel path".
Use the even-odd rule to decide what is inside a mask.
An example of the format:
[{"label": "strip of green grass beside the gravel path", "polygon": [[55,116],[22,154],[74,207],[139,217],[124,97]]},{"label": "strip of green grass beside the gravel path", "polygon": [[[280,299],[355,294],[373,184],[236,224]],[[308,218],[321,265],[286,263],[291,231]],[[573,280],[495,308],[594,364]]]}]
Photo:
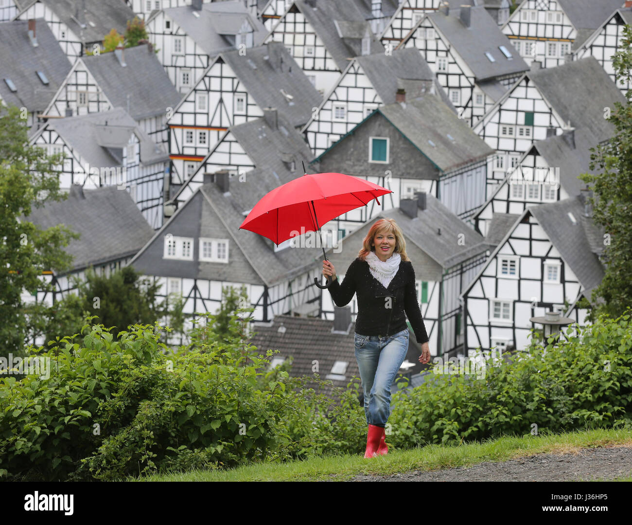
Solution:
[{"label": "strip of green grass beside the gravel path", "polygon": [[[465,445],[427,445],[410,450],[393,450],[389,447],[389,454],[372,459],[364,459],[361,454],[326,455],[304,461],[249,464],[224,471],[156,474],[126,481],[344,481],[357,474],[430,471],[543,452],[572,454],[580,448],[612,445],[632,445],[632,432],[625,429],[591,429],[540,436],[505,436]],[[631,481],[631,476],[617,478],[616,481]]]}]

